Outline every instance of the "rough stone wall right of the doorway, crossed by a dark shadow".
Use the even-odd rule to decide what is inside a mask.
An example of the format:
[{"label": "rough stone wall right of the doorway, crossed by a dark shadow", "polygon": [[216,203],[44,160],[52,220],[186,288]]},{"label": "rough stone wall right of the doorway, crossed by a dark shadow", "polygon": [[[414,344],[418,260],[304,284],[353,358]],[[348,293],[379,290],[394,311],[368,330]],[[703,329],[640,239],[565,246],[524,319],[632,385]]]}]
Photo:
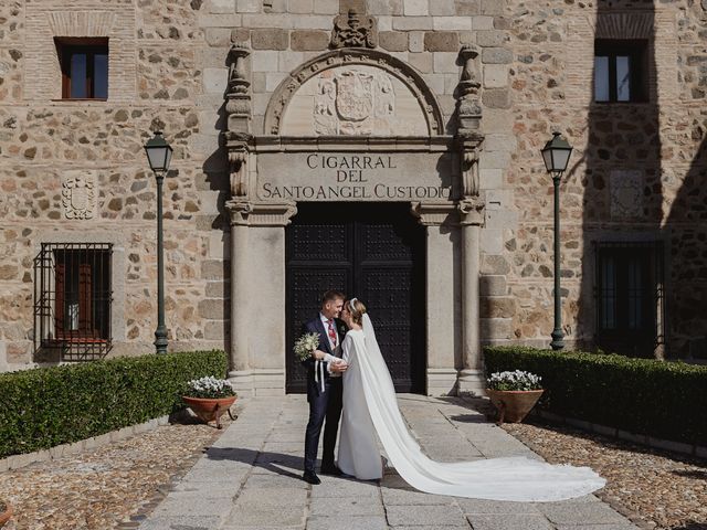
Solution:
[{"label": "rough stone wall right of the doorway, crossed by a dark shadow", "polygon": [[[496,222],[489,212],[486,230],[503,230],[504,246],[487,246],[483,273],[505,275],[514,304],[493,297],[482,308],[513,325],[497,320],[489,342],[549,342],[552,183],[539,149],[553,130],[574,147],[560,195],[569,342],[593,340],[595,241],[662,241],[668,354],[684,357],[705,335],[705,20],[699,2],[508,2],[513,107],[503,124],[485,109],[484,127],[508,135],[502,188],[513,199]],[[594,36],[652,41],[648,103],[592,103]]]}]

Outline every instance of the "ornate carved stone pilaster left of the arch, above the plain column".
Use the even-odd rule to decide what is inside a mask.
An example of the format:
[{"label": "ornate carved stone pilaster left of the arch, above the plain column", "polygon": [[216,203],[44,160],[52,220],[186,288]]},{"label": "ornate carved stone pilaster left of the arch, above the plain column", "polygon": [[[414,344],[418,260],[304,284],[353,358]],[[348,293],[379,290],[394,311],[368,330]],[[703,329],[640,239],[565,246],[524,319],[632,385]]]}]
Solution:
[{"label": "ornate carved stone pilaster left of the arch, above the plain column", "polygon": [[249,192],[247,159],[252,135],[251,124],[251,82],[247,80],[246,60],[251,54],[247,45],[234,42],[229,50],[229,92],[225,112],[228,114],[228,131],[225,132],[229,167],[231,176],[231,194],[246,198]]}]

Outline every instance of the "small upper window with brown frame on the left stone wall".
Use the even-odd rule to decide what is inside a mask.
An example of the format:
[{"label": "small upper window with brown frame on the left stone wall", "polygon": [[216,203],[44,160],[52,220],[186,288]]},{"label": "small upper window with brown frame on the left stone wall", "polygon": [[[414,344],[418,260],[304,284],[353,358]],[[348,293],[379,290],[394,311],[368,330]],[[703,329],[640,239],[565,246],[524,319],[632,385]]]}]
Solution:
[{"label": "small upper window with brown frame on the left stone wall", "polygon": [[108,98],[108,39],[55,39],[63,99]]}]

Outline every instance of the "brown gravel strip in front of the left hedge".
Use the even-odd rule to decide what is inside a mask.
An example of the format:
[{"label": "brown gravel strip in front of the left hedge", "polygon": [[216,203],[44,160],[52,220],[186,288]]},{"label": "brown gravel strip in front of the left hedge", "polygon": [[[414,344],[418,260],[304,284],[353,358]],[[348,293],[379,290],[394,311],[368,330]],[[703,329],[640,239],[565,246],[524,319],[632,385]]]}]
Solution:
[{"label": "brown gravel strip in front of the left hedge", "polygon": [[[228,414],[221,418],[224,428]],[[14,515],[2,530],[108,530],[138,526],[169,485],[183,476],[222,431],[189,423],[80,455],[0,475]]]}]

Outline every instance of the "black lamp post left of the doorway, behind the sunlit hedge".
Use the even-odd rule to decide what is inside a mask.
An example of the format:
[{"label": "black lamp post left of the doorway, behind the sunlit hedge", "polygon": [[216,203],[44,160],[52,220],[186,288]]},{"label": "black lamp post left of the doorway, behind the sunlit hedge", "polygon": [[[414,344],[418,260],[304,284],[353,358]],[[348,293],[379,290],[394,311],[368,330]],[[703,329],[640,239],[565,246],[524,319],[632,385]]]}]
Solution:
[{"label": "black lamp post left of the doorway, behind the sunlit hedge", "polygon": [[155,330],[155,352],[167,353],[167,326],[165,326],[165,242],[162,239],[162,181],[172,159],[172,148],[162,138],[162,132],[145,144],[147,160],[157,179],[157,329]]}]

